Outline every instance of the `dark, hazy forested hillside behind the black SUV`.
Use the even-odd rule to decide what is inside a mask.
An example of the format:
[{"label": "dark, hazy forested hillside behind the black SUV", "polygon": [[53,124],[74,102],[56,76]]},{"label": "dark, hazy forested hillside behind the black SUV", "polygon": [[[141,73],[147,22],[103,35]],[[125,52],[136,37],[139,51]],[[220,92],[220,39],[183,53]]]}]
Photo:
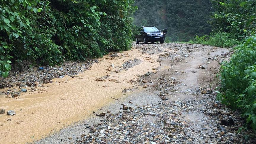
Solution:
[{"label": "dark, hazy forested hillside behind the black SUV", "polygon": [[135,0],[135,5],[135,25],[167,27],[169,41],[189,41],[211,31],[210,0]]}]

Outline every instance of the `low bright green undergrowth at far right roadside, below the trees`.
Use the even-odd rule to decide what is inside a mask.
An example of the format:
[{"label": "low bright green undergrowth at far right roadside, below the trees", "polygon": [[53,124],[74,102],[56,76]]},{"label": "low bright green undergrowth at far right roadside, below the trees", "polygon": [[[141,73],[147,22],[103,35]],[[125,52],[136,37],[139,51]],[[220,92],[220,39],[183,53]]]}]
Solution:
[{"label": "low bright green undergrowth at far right roadside, below the trees", "polygon": [[225,32],[218,32],[210,36],[196,36],[189,42],[193,44],[211,45],[215,47],[232,47],[236,44],[241,44],[241,42],[237,40],[235,36]]}]

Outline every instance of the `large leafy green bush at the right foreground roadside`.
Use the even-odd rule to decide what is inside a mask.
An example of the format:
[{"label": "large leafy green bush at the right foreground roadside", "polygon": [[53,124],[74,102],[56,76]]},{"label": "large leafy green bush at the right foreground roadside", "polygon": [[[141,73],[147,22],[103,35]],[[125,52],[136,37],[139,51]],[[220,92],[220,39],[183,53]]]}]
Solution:
[{"label": "large leafy green bush at the right foreground roadside", "polygon": [[222,65],[218,100],[241,110],[247,125],[256,129],[256,35],[235,48],[230,62]]}]

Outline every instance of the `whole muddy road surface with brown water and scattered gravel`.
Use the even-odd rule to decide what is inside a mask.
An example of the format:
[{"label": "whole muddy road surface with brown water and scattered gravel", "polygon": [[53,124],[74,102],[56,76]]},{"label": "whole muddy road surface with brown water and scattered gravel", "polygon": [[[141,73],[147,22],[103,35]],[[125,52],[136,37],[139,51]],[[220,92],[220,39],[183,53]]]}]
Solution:
[{"label": "whole muddy road surface with brown water and scattered gravel", "polygon": [[[215,99],[219,63],[230,55],[203,45],[134,44],[38,91],[0,96],[0,109],[16,112],[1,114],[0,143],[242,142],[238,113]],[[221,124],[228,119],[236,126]]]}]

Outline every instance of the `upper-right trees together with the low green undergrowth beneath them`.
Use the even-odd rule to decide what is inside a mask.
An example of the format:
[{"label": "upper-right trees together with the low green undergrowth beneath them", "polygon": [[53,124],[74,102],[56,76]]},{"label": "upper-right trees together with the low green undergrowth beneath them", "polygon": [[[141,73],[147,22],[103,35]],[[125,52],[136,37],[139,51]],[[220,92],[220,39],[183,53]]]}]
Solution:
[{"label": "upper-right trees together with the low green undergrowth beneath them", "polygon": [[255,33],[256,1],[211,1],[214,9],[209,21],[212,33],[209,36],[196,36],[190,41],[191,43],[231,47],[235,44],[241,44],[246,36],[251,36]]}]

